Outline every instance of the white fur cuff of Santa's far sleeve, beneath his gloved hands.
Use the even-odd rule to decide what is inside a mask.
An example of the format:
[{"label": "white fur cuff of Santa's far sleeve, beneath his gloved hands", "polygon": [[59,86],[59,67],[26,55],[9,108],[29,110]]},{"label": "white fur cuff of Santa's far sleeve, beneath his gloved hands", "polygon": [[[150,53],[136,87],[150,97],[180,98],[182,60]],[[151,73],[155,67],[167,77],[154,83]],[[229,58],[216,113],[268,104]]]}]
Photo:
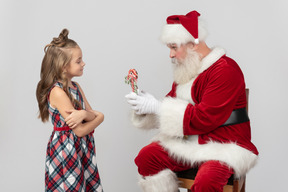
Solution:
[{"label": "white fur cuff of Santa's far sleeve, beneath his gloved hands", "polygon": [[137,115],[133,112],[131,121],[139,129],[150,130],[159,128],[159,120],[155,114]]}]

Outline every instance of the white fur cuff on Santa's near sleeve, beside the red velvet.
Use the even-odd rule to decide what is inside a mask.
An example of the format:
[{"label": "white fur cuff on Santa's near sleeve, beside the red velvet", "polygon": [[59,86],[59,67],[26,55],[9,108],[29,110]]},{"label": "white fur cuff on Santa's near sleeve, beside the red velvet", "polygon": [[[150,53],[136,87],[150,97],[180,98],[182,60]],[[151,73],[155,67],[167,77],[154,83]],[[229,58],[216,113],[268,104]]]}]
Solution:
[{"label": "white fur cuff on Santa's near sleeve, beside the red velvet", "polygon": [[160,107],[160,133],[171,137],[183,137],[183,118],[189,102],[167,97]]}]

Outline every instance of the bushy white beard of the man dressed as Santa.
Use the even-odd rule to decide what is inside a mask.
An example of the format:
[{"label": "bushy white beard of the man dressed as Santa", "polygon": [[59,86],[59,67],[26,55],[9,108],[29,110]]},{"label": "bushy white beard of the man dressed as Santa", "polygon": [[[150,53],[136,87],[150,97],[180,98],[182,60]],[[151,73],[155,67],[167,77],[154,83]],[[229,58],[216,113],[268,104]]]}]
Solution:
[{"label": "bushy white beard of the man dressed as Santa", "polygon": [[183,60],[172,58],[174,81],[177,84],[184,84],[189,82],[198,74],[200,68],[199,53],[187,49],[187,56]]}]

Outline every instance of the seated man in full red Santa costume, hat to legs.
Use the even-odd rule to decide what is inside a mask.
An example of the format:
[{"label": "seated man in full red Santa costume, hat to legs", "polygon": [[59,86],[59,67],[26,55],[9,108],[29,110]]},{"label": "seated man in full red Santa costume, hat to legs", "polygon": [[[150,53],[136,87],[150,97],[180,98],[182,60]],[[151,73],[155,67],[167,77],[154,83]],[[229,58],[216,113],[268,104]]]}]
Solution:
[{"label": "seated man in full red Santa costume, hat to legs", "polygon": [[[135,158],[145,192],[175,192],[175,172],[198,167],[192,191],[223,191],[256,163],[251,142],[245,81],[238,64],[222,48],[209,48],[200,14],[167,18],[161,40],[170,49],[174,83],[164,99],[126,95],[132,122],[159,133]],[[236,118],[235,118],[236,117]]]}]

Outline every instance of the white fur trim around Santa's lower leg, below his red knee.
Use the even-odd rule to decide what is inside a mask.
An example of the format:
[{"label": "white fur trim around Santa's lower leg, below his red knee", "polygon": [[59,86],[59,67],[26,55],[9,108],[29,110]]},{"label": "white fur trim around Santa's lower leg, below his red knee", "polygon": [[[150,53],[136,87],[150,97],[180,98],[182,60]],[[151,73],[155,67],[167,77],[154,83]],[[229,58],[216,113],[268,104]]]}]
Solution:
[{"label": "white fur trim around Santa's lower leg, below his red knee", "polygon": [[170,169],[165,169],[156,175],[139,179],[139,185],[144,192],[177,192],[177,177]]}]

